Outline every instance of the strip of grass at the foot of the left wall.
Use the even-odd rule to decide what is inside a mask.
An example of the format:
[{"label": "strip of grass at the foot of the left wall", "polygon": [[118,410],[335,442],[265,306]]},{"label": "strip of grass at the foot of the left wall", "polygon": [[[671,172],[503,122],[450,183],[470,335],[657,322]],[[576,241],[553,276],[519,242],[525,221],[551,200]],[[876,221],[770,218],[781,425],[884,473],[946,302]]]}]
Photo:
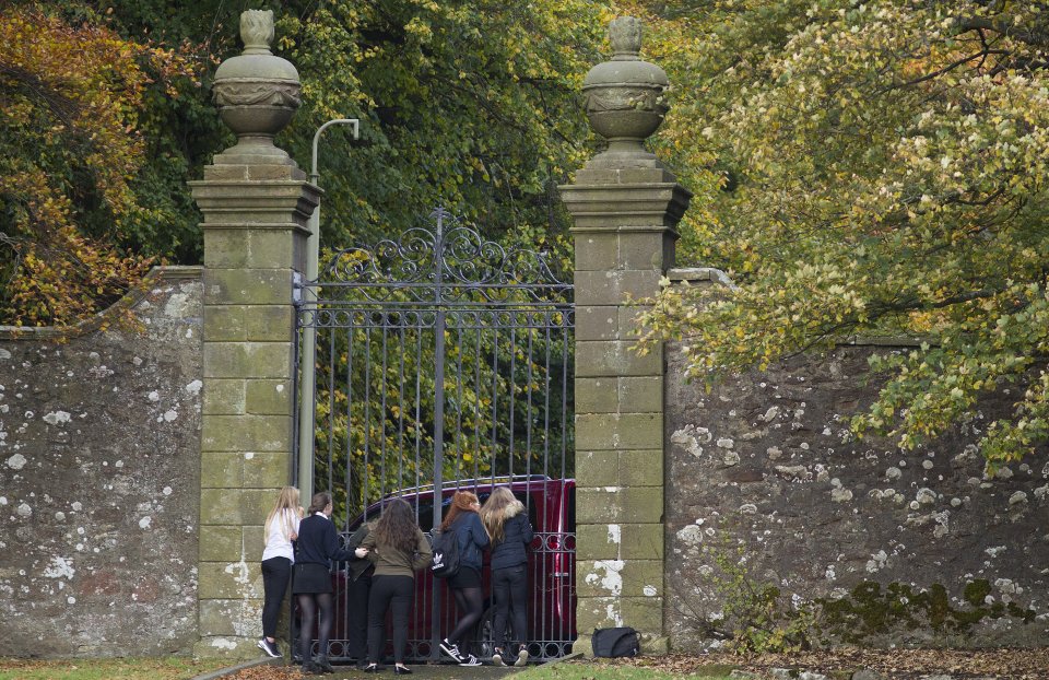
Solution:
[{"label": "strip of grass at the foot of the left wall", "polygon": [[37,660],[0,658],[0,680],[185,680],[229,666],[182,657]]}]

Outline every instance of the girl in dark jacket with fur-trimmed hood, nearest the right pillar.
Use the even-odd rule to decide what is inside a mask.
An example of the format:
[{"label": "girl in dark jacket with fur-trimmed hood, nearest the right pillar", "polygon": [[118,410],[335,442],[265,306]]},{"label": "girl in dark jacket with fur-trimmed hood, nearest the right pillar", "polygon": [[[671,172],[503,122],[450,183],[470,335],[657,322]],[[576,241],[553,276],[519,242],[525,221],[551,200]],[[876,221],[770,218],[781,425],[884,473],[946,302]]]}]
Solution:
[{"label": "girl in dark jacket with fur-trimmed hood, nearest the right pillar", "polygon": [[481,508],[481,521],[492,539],[492,599],[495,600],[495,650],[492,663],[505,666],[506,622],[514,612],[512,632],[518,646],[515,666],[528,663],[524,614],[528,601],[528,544],[532,542],[532,524],[524,505],[506,486],[498,486]]}]

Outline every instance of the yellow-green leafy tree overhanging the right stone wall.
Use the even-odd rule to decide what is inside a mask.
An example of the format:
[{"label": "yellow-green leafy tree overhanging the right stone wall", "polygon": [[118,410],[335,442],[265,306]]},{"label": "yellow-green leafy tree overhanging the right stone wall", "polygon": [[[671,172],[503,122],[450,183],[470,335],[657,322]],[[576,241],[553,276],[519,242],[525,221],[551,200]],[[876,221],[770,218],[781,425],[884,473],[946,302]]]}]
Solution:
[{"label": "yellow-green leafy tree overhanging the right stone wall", "polygon": [[658,146],[698,189],[681,259],[739,290],[668,288],[647,340],[681,339],[712,380],[918,337],[873,360],[887,382],[854,432],[915,447],[1014,386],[982,452],[1033,452],[1049,436],[1049,3],[692,4],[652,11],[650,51],[679,83]]}]

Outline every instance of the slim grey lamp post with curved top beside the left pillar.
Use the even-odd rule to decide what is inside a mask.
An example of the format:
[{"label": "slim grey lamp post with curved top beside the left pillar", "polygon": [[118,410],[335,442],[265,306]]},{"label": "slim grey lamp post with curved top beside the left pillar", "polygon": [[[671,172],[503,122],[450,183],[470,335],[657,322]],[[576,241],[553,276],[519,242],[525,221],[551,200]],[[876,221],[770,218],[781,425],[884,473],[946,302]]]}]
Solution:
[{"label": "slim grey lamp post with curved top beside the left pillar", "polygon": [[[356,118],[335,118],[317,128],[314,133],[313,156],[309,165],[309,181],[320,186],[317,172],[317,144],[321,133],[333,125],[349,125],[353,128],[353,139],[360,138],[361,121]],[[309,216],[309,237],[306,241],[306,281],[316,281],[320,261],[320,206]],[[316,301],[313,288],[303,289],[303,303]],[[303,329],[300,353],[302,391],[298,399],[298,490],[308,503],[314,495],[314,431],[316,430],[315,365],[317,363],[317,331],[313,325]],[[330,491],[330,489],[329,489]]]}]

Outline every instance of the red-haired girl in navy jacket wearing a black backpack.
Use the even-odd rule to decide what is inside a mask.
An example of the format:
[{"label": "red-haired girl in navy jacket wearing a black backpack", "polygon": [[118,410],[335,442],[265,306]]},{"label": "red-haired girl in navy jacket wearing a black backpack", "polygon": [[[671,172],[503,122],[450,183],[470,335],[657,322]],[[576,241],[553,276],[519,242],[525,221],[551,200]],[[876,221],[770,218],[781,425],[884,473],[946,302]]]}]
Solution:
[{"label": "red-haired girl in navy jacket wearing a black backpack", "polygon": [[484,613],[484,593],[481,590],[481,551],[488,547],[488,535],[481,524],[478,511],[481,502],[469,491],[457,491],[451,497],[451,508],[440,523],[440,531],[455,531],[459,543],[459,572],[448,579],[448,587],[456,598],[460,619],[448,637],[440,641],[440,650],[460,666],[480,666],[472,654],[459,650],[459,642],[481,620]]}]

